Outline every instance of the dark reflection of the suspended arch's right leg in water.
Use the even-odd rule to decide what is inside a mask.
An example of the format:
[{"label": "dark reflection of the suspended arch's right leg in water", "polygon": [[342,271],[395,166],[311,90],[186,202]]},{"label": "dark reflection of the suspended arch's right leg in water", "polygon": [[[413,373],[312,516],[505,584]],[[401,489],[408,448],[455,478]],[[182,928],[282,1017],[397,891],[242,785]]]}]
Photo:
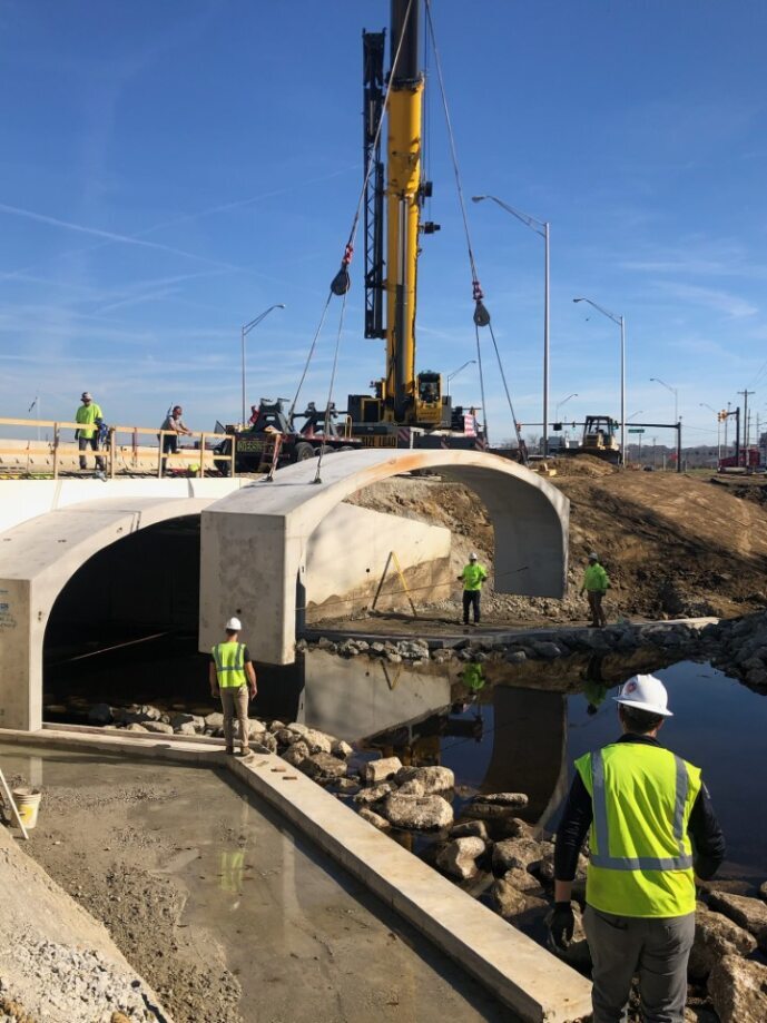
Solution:
[{"label": "dark reflection of the suspended arch's right leg in water", "polygon": [[543,823],[567,789],[567,698],[543,689],[493,688],[494,734],[485,793],[527,793],[523,815]]}]

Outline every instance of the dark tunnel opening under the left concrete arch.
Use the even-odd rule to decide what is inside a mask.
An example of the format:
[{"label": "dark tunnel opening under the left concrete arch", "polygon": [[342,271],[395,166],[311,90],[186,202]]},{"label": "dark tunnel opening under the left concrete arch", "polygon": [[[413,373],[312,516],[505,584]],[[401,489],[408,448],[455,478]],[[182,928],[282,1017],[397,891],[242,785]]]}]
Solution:
[{"label": "dark tunnel opening under the left concrete arch", "polygon": [[[59,592],[42,650],[43,717],[77,700],[205,694],[197,652],[199,514],[168,519],[95,553]],[[200,681],[201,680],[201,681]],[[66,708],[50,710],[50,708]]]}]

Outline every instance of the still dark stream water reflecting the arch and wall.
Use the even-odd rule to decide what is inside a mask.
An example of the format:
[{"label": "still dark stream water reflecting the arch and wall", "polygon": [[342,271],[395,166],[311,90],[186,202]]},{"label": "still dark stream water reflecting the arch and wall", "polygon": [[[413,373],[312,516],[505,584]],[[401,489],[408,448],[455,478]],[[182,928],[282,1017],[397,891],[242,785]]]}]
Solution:
[{"label": "still dark stream water reflecting the arch and wall", "polygon": [[[79,660],[76,672],[48,671],[46,688],[59,714],[47,708],[46,719],[85,724],[95,698],[197,714],[217,709],[207,659],[167,642],[163,652],[166,659],[131,663],[120,651],[119,662],[108,666],[96,658]],[[648,669],[666,683],[675,712],[661,742],[702,768],[727,836],[725,873],[764,881],[767,697],[708,665],[649,662],[642,666]],[[294,668],[259,670],[250,714],[304,721],[355,742],[363,758],[382,751],[405,764],[443,764],[455,773],[459,803],[476,791],[527,793],[527,819],[554,829],[572,761],[620,735],[611,697],[636,670],[614,656],[601,663],[531,661],[517,670],[390,665],[313,650]]]}]

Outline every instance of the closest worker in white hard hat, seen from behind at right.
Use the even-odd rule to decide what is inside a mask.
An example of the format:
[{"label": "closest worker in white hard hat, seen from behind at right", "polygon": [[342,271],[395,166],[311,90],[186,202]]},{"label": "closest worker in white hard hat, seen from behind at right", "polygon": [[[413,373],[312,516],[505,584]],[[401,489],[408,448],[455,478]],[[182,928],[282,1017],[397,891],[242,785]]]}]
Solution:
[{"label": "closest worker in white hard hat, seen from behind at right", "polygon": [[695,876],[712,877],[725,839],[700,769],[658,742],[671,717],[663,683],[635,675],[618,702],[621,737],[576,760],[557,829],[550,941],[567,948],[578,856],[590,828],[583,926],[593,1023],[619,1023],[639,973],[646,1023],[682,1023],[695,936]]}]

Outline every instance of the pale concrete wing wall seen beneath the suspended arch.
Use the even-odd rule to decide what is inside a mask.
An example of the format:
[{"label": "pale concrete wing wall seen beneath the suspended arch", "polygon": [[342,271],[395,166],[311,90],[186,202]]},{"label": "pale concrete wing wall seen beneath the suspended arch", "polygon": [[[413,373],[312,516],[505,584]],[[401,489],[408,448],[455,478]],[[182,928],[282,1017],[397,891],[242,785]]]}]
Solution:
[{"label": "pale concrete wing wall seen beneath the suspended arch", "polygon": [[[306,553],[306,618],[338,618],[370,607],[391,552],[415,601],[450,594],[450,530],[340,504],[314,530]],[[390,564],[377,608],[406,607]]]}]

